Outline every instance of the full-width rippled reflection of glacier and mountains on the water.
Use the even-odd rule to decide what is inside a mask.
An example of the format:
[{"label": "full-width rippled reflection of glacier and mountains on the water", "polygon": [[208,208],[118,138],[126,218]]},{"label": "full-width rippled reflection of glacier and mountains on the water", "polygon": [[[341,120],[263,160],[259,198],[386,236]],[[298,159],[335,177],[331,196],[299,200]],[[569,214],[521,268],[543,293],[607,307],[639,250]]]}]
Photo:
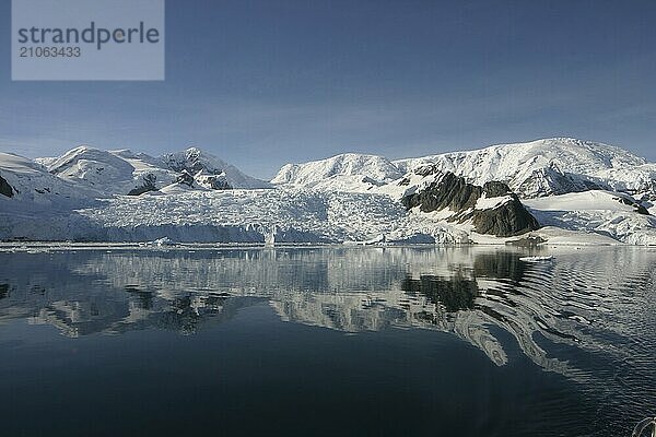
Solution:
[{"label": "full-width rippled reflection of glacier and mountains on the water", "polygon": [[[181,333],[269,302],[282,320],[345,332],[452,332],[496,365],[507,332],[539,366],[611,388],[654,383],[656,252],[558,249],[526,263],[505,248],[271,248],[2,253],[0,322],[70,336]],[[36,269],[35,267],[38,267]],[[640,389],[639,389],[640,388]],[[598,393],[597,393],[598,394]]]}]

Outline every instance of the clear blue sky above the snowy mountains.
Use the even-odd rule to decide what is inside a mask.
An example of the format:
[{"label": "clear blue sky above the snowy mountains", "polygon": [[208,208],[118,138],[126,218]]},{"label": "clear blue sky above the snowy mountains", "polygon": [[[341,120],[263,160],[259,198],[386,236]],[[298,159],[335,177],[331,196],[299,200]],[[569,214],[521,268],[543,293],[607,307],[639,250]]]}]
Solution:
[{"label": "clear blue sky above the snowy mountains", "polygon": [[656,161],[654,0],[168,0],[164,82],[12,82],[0,150],[200,146],[246,173],[546,137]]}]

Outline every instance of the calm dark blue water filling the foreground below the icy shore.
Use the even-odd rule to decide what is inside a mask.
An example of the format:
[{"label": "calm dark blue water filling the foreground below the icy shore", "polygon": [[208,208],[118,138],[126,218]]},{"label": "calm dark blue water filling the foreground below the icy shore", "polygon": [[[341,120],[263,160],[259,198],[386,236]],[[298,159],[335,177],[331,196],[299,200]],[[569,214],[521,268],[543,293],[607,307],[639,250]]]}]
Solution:
[{"label": "calm dark blue water filling the foreground below the icy shore", "polygon": [[0,253],[2,436],[629,436],[656,250]]}]

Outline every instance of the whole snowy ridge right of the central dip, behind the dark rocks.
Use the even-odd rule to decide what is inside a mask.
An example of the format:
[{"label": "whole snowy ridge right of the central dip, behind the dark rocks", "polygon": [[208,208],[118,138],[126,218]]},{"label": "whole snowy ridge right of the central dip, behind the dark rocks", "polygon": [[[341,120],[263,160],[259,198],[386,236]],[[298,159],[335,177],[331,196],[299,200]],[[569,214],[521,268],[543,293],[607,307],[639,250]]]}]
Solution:
[{"label": "whole snowy ridge right of the central dip, behind the dark rocks", "polygon": [[[478,186],[491,180],[505,182],[527,199],[590,189],[656,194],[656,164],[620,147],[572,138],[499,144],[396,161],[345,154],[306,164],[288,164],[272,182],[366,191],[426,165],[442,173],[462,176]],[[376,182],[362,182],[365,177]]]}]

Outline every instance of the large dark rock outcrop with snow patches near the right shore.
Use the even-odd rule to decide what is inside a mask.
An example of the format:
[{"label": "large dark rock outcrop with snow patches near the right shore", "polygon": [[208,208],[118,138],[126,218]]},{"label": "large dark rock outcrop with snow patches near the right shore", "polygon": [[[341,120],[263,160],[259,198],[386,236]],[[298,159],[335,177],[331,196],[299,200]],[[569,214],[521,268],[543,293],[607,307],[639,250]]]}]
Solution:
[{"label": "large dark rock outcrop with snow patches near the right shore", "polygon": [[[429,166],[418,172],[422,176],[430,176],[436,169]],[[509,237],[540,227],[507,185],[490,181],[479,187],[450,172],[438,175],[435,181],[401,201],[408,210],[417,206],[422,212],[448,210],[453,214],[447,221],[471,221],[479,234]]]}]

